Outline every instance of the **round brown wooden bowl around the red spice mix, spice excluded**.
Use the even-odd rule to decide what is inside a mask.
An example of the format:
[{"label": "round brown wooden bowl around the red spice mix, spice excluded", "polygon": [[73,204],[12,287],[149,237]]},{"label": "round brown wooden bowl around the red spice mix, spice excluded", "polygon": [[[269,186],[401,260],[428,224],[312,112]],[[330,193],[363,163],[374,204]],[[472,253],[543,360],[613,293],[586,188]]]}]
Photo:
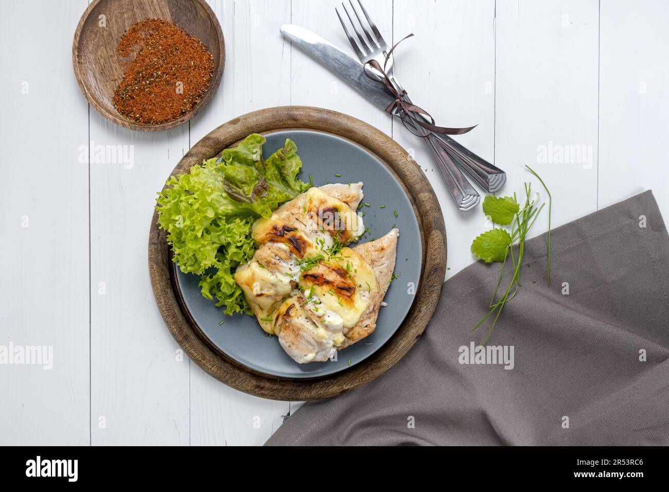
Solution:
[{"label": "round brown wooden bowl around the red spice mix, spice excluded", "polygon": [[[125,68],[116,55],[118,42],[131,25],[151,18],[173,22],[197,37],[211,52],[214,63],[211,82],[199,104],[179,118],[159,125],[134,122],[120,114],[112,103]],[[102,20],[104,27],[100,27]],[[132,130],[167,130],[193,118],[216,92],[225,65],[223,31],[205,0],[95,0],[74,33],[72,63],[84,96],[105,118]]]}]

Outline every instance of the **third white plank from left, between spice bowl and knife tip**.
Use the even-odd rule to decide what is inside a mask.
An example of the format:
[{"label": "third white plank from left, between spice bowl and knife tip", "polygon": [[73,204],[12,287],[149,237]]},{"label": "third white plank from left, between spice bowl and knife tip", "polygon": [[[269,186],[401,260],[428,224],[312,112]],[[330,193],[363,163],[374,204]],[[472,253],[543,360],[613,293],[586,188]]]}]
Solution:
[{"label": "third white plank from left, between spice bowl and knife tip", "polygon": [[[290,104],[290,0],[211,1],[225,34],[225,72],[217,94],[191,120],[191,145],[246,112]],[[221,327],[224,329],[224,327]],[[191,362],[191,444],[262,444],[288,414],[275,402],[233,390]]]}]

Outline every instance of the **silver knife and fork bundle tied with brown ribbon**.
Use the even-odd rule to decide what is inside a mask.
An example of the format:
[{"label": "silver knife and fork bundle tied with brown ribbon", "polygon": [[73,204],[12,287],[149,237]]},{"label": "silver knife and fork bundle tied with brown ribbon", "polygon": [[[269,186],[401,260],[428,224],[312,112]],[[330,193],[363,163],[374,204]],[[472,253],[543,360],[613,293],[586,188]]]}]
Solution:
[{"label": "silver knife and fork bundle tied with brown ribbon", "polygon": [[[489,193],[495,193],[502,188],[506,182],[506,173],[448,135],[431,131],[421,125],[424,122],[425,126],[434,127],[434,121],[429,115],[419,112],[419,108],[411,103],[393,70],[393,48],[385,42],[360,0],[358,3],[366,23],[352,0],[349,0],[350,11],[342,3],[345,15],[339,9],[335,10],[359,60],[304,27],[286,24],[281,27],[281,32],[286,39],[362,92],[368,100],[385,110],[392,108],[390,114],[399,118],[411,133],[425,143],[458,209],[463,212],[472,210],[480,202],[480,195],[464,173]],[[349,21],[348,25],[346,20]],[[397,104],[397,98],[401,98],[404,104]],[[413,106],[414,109],[407,111],[403,106]]]}]

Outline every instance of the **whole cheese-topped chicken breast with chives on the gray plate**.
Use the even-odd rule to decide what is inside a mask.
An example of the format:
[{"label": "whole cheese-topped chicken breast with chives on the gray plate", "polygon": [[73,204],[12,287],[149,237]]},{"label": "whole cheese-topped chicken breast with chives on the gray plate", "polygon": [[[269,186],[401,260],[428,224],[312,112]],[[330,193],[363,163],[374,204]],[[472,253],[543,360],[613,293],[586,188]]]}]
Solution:
[{"label": "whole cheese-topped chicken breast with chives on the gray plate", "polygon": [[235,281],[262,328],[299,363],[372,333],[395,266],[397,229],[355,248],[362,183],[310,188],[254,225],[260,247]]}]

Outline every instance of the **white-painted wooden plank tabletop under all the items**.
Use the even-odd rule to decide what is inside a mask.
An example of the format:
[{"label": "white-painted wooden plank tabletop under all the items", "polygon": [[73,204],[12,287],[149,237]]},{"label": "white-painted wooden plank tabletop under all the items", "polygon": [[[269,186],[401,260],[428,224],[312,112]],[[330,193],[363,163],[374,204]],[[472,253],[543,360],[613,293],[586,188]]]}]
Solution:
[{"label": "white-painted wooden plank tabletop under all the items", "polygon": [[[0,17],[0,345],[53,347],[51,370],[0,365],[0,444],[262,444],[298,405],[182,360],[149,283],[155,196],[189,146],[252,110],[332,108],[415,149],[444,211],[448,276],[474,261],[483,214],[458,212],[416,137],[283,41],[280,25],[296,23],[349,49],[336,2],[212,0],[223,82],[162,133],[117,127],[82,96],[71,48],[86,5],[6,1]],[[478,123],[459,140],[507,171],[504,192],[529,164],[553,193],[553,226],[649,188],[669,218],[669,2],[366,5],[387,37],[416,34],[395,58],[403,85],[442,125]],[[132,159],[91,160],[90,142],[131,146]]]}]

